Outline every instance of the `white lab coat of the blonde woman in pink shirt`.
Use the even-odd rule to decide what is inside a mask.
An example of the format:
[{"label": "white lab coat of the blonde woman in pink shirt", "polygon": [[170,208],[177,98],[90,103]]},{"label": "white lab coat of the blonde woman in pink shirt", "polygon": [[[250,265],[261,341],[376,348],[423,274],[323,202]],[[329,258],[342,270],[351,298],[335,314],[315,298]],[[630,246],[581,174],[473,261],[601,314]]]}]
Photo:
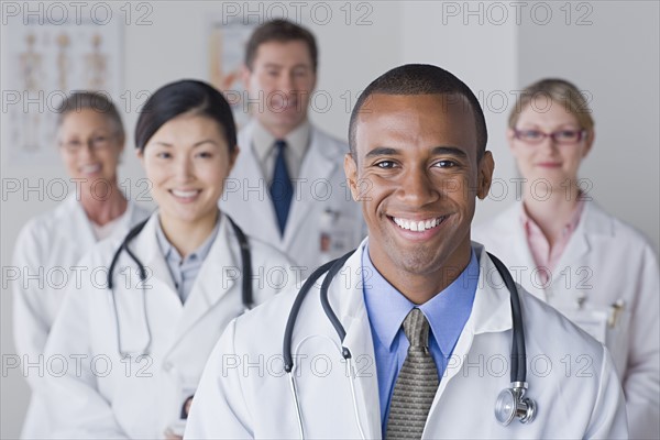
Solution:
[{"label": "white lab coat of the blonde woman in pink shirt", "polygon": [[[605,342],[627,400],[630,438],[660,438],[660,273],[658,257],[629,226],[586,201],[546,286],[534,272],[521,204],[473,230],[473,239],[498,256],[528,292]],[[546,288],[543,288],[546,287]],[[578,299],[582,298],[582,307]],[[624,308],[616,322],[612,307]]]}]

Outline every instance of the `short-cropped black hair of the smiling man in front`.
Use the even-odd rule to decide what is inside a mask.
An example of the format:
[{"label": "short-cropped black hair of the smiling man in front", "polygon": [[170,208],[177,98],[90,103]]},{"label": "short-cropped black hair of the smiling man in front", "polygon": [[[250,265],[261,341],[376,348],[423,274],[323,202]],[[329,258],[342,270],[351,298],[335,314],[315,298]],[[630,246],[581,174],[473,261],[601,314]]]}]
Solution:
[{"label": "short-cropped black hair of the smiling man in front", "polygon": [[349,144],[355,157],[355,129],[358,117],[366,100],[374,94],[382,95],[457,95],[464,97],[474,114],[476,129],[477,161],[486,151],[488,132],[479,100],[463,81],[453,74],[428,64],[407,64],[381,75],[358,98],[349,124]]}]

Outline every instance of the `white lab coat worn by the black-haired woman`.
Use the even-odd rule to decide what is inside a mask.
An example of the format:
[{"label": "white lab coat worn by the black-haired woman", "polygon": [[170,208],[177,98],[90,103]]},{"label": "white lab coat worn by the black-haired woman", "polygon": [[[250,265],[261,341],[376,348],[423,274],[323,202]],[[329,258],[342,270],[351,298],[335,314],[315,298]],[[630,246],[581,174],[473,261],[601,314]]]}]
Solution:
[{"label": "white lab coat worn by the black-haired woman", "polygon": [[[158,246],[157,221],[157,213],[152,215],[130,245],[147,267],[145,296],[138,266],[127,252],[113,276],[121,348],[132,353],[130,358],[119,353],[107,270],[67,292],[46,345],[46,359],[65,359],[68,366],[66,374],[53,372],[43,381],[53,437],[163,439],[169,426],[182,424],[183,404],[195,392],[222,330],[243,312],[241,254],[227,217],[221,217],[185,305]],[[294,278],[284,254],[258,240],[249,242],[254,300],[261,304]],[[118,245],[106,241],[80,264],[106,268]],[[140,356],[148,342],[144,298],[152,342],[150,354]],[[76,359],[81,359],[80,367]]]}]

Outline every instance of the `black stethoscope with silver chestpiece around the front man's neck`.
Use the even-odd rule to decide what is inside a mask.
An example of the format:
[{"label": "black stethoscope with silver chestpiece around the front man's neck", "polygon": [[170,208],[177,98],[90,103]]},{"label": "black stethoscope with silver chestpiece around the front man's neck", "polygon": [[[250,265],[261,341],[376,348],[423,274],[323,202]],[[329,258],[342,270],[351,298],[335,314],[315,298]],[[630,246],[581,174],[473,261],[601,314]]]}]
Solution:
[{"label": "black stethoscope with silver chestpiece around the front man's neck", "polygon": [[[360,413],[358,408],[358,399],[355,395],[355,374],[353,367],[353,356],[349,348],[344,345],[344,338],[346,336],[346,331],[341,324],[341,321],[332,310],[330,306],[330,301],[328,300],[328,289],[332,279],[337,275],[337,273],[343,267],[346,260],[354,253],[355,251],[351,251],[345,255],[330,261],[319,268],[317,268],[310,276],[307,278],[294,304],[292,306],[292,310],[288,316],[288,320],[286,322],[286,328],[284,331],[284,341],[283,341],[283,358],[284,358],[284,370],[289,376],[289,385],[290,392],[294,400],[294,405],[296,407],[296,416],[298,419],[298,433],[300,439],[305,439],[305,429],[302,427],[302,411],[300,409],[300,402],[298,399],[298,392],[296,387],[296,378],[294,374],[294,356],[292,350],[292,341],[294,338],[294,327],[296,326],[296,320],[298,318],[298,314],[300,308],[302,307],[302,301],[311,289],[311,287],[316,284],[316,282],[327,273],[320,288],[320,302],[326,317],[334,328],[337,336],[339,337],[339,341],[341,343],[341,355],[345,361],[346,365],[346,376],[349,377],[351,385],[351,396],[353,399],[353,411],[355,416],[355,421],[358,424],[358,429],[360,431],[360,436],[362,439],[366,439],[364,433],[364,429],[362,428],[362,424],[360,422]],[[530,424],[534,421],[536,417],[536,402],[530,399],[529,397],[525,397],[525,394],[528,388],[527,384],[527,352],[525,349],[525,331],[522,328],[522,311],[520,307],[520,298],[518,297],[518,289],[516,288],[516,284],[506,268],[504,263],[502,263],[497,257],[493,254],[488,253],[488,256],[495,264],[495,268],[504,279],[504,283],[509,290],[510,302],[512,302],[512,319],[513,319],[513,342],[512,342],[512,373],[510,373],[510,387],[503,389],[497,396],[497,400],[495,402],[495,418],[503,426],[509,425],[515,418],[517,418],[521,424]]]}]

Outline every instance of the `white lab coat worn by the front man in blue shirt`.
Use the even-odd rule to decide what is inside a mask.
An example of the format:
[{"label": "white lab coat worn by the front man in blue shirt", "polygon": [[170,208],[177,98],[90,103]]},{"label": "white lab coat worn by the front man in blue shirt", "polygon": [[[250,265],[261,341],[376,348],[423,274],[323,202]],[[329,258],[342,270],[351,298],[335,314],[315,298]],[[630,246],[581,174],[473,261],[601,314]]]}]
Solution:
[{"label": "white lab coat worn by the front man in blue shirt", "polygon": [[[367,439],[376,439],[383,433],[373,339],[359,275],[361,250],[332,282],[329,301],[355,361],[361,425]],[[509,386],[512,309],[509,293],[482,250],[475,243],[481,273],[472,312],[440,382],[422,438],[625,438],[624,397],[607,350],[524,292],[528,396],[536,399],[538,415],[530,425],[497,424],[495,402]],[[292,343],[298,359],[295,374],[306,437],[358,439],[351,382],[339,338],[319,301],[319,288],[320,282],[304,301]],[[296,292],[282,294],[228,326],[202,375],[186,439],[299,438],[282,362],[284,329],[295,296]]]}]

